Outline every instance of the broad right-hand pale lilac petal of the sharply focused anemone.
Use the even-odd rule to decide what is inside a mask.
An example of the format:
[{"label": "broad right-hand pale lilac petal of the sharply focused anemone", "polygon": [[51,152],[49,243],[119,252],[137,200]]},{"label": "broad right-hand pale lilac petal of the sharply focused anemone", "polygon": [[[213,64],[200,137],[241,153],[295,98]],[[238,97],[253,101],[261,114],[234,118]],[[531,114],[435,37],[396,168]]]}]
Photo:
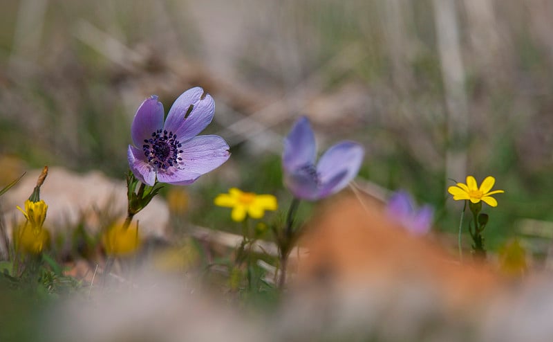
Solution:
[{"label": "broad right-hand pale lilac petal of the sharply focused anemone", "polygon": [[221,136],[195,136],[180,147],[182,163],[179,168],[187,172],[205,174],[229,159],[229,145]]}]

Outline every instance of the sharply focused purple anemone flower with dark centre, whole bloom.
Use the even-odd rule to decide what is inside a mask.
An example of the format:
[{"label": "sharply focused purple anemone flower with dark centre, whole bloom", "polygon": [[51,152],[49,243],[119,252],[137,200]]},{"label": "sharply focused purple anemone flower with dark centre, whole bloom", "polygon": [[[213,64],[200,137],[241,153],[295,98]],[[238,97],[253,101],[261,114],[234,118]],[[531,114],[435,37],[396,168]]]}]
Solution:
[{"label": "sharply focused purple anemone flower with dark centre, whole bloom", "polygon": [[162,183],[187,185],[229,159],[229,146],[221,136],[198,136],[212,122],[213,98],[202,88],[182,93],[167,120],[157,96],[144,100],[131,126],[133,145],[127,158],[136,178],[153,186]]}]

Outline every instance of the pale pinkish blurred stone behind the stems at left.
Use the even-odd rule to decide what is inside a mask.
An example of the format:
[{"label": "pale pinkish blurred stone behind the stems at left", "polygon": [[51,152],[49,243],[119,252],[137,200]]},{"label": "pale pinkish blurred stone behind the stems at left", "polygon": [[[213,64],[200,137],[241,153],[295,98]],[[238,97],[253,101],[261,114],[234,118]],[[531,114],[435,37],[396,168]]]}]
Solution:
[{"label": "pale pinkish blurred stone behind the stems at left", "polygon": [[[0,197],[8,233],[14,221],[23,220],[16,206],[24,208],[40,172],[27,172],[17,186]],[[50,168],[40,188],[40,198],[48,204],[44,226],[53,233],[74,228],[82,218],[86,227],[95,232],[105,224],[103,218],[126,216],[126,182],[110,179],[100,171],[78,174],[64,168]],[[104,214],[104,217],[98,217],[98,213]],[[165,237],[165,228],[169,222],[167,204],[161,197],[154,197],[146,208],[135,215],[133,223],[136,222],[139,222],[144,237]]]}]

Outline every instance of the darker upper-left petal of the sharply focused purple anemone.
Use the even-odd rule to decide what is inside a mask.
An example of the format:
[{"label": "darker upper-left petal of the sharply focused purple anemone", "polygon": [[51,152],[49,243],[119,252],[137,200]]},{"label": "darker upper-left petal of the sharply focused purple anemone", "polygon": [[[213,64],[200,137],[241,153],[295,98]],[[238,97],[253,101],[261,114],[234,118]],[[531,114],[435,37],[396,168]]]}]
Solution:
[{"label": "darker upper-left petal of the sharply focused purple anemone", "polygon": [[136,110],[131,125],[131,137],[133,143],[140,147],[144,139],[151,138],[151,134],[163,127],[163,105],[158,102],[158,97],[152,95],[142,102]]}]

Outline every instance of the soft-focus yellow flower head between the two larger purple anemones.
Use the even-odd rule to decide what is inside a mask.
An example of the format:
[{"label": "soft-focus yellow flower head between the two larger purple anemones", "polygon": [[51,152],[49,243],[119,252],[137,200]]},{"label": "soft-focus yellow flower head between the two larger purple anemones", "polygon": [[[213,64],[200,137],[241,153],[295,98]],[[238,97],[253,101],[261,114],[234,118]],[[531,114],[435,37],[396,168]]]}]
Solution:
[{"label": "soft-focus yellow flower head between the two larger purple anemones", "polygon": [[215,197],[216,206],[232,208],[233,221],[241,222],[246,215],[253,219],[261,219],[265,210],[277,210],[277,197],[273,195],[256,195],[253,192],[243,192],[237,188],[230,188],[228,194]]}]

